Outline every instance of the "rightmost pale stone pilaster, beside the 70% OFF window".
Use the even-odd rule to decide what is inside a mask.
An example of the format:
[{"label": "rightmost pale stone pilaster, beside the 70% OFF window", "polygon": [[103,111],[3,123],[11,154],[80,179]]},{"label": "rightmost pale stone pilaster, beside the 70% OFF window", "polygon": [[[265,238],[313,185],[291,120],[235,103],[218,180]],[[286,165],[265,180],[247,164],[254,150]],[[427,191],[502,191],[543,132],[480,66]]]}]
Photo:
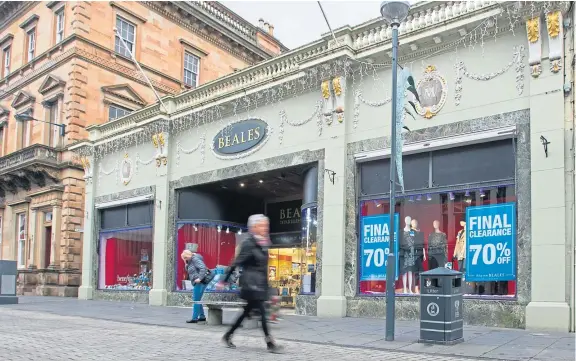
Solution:
[{"label": "rightmost pale stone pilaster, beside the 70% OFF window", "polygon": [[[546,67],[547,68],[547,67]],[[530,80],[532,181],[532,283],[526,328],[568,331],[569,199],[574,187],[569,153],[571,122],[565,118],[564,77],[543,72]],[[542,142],[548,141],[547,153]],[[573,198],[572,198],[573,199]]]}]

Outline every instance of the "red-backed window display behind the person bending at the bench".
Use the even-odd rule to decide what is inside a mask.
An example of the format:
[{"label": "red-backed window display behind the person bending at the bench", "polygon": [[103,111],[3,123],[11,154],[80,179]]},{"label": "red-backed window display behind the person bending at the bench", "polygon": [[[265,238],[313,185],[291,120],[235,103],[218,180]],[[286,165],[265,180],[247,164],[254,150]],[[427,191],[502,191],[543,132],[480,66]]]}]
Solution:
[{"label": "red-backed window display behind the person bending at the bench", "polygon": [[[197,244],[197,253],[204,258],[206,267],[216,274],[212,282],[206,286],[206,292],[215,292],[216,283],[230,266],[236,254],[236,247],[246,236],[246,228],[234,223],[179,222],[176,235],[175,289],[177,291],[192,289],[192,284],[186,280],[184,261],[180,258],[180,254],[192,244]],[[237,276],[233,277],[220,292],[236,291]]]}]

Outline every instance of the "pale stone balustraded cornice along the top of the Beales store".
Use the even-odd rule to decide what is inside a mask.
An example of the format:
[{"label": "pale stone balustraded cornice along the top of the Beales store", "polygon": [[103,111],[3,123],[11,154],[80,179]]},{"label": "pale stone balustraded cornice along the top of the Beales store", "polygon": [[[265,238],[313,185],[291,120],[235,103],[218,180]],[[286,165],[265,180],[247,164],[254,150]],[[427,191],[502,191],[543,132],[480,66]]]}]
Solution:
[{"label": "pale stone balustraded cornice along the top of the Beales store", "polygon": [[[502,9],[506,11],[507,6],[518,6],[517,4],[516,2],[508,2],[503,5],[504,8]],[[454,10],[451,13],[454,16],[449,16],[440,21],[441,18],[439,16],[435,18],[431,15],[433,11],[438,11],[438,9],[442,7],[441,5],[444,6],[444,10],[446,11],[450,10],[447,8],[449,6],[458,6],[458,11]],[[462,10],[461,7],[465,7],[466,9],[464,14],[459,12]],[[410,27],[410,24],[406,23],[404,24],[404,33],[401,33],[402,44],[404,46],[416,42],[418,42],[418,44],[426,44],[422,49],[414,51],[414,54],[406,55],[407,59],[412,60],[432,53],[447,51],[450,43],[434,46],[429,45],[433,43],[431,40],[433,37],[438,36],[439,31],[445,32],[445,34],[442,35],[443,37],[458,36],[461,29],[466,27],[474,28],[484,19],[491,18],[502,11],[501,8],[495,5],[495,2],[485,1],[473,2],[472,5],[464,2],[448,2],[444,4],[440,3],[440,5],[434,2],[426,2],[419,5],[416,9],[418,11],[415,13],[418,14],[418,16],[424,13],[424,18],[415,18],[415,15],[413,15],[410,21],[414,22],[417,20],[418,24],[420,24],[422,20],[427,21],[427,23],[422,23],[425,24],[425,26],[418,28]],[[541,10],[540,7],[538,9],[539,11]],[[522,7],[519,10],[519,14],[525,12],[525,9]],[[446,12],[444,14],[446,14]],[[514,25],[522,26],[522,24],[523,20],[520,18]],[[504,30],[504,27],[502,27],[502,29]],[[385,28],[380,27],[378,31],[382,34],[382,30],[384,30],[385,35]],[[510,30],[510,28],[507,27],[506,30]],[[309,71],[314,68],[319,69],[320,66],[329,67],[330,64],[334,64],[336,59],[338,59],[340,64],[349,64],[349,66],[352,67],[349,71],[352,71],[354,68],[357,68],[358,64],[354,62],[354,60],[365,59],[368,56],[384,57],[386,52],[389,51],[391,39],[386,36],[376,38],[374,37],[375,33],[376,29],[372,32],[366,32],[364,30],[358,32],[357,29],[350,27],[341,29],[337,34],[338,43],[326,38],[320,39],[276,58],[218,78],[177,96],[170,97],[169,100],[165,100],[165,103],[170,103],[170,117],[174,121],[191,112],[204,111],[217,106],[221,107],[236,99],[240,99],[242,96],[246,96],[246,94],[254,94],[267,88],[280,86],[280,84],[290,81],[297,81],[300,78],[306,78],[309,76],[309,74],[307,74]],[[354,38],[355,34],[372,34],[372,36],[367,37],[368,43],[364,43],[364,39],[362,39],[361,43],[358,43],[357,39]],[[496,34],[496,36],[498,35],[499,34]],[[346,58],[351,59],[351,61],[342,60]],[[140,112],[131,113],[127,117],[118,119],[118,122],[114,124],[94,126],[92,128],[94,134],[99,135],[91,138],[91,140],[100,142],[111,137],[120,139],[122,134],[133,132],[143,124],[153,121],[153,119],[146,120],[145,117],[143,118],[138,115],[139,113]],[[151,114],[156,116],[157,113]],[[136,119],[136,117],[139,117],[137,122],[131,120]]]}]

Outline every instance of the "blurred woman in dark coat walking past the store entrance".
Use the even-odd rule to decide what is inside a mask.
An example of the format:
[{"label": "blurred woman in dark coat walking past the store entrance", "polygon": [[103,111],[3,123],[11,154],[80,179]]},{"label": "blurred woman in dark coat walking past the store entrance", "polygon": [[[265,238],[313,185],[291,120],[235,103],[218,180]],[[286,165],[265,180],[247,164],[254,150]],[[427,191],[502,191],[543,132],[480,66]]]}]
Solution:
[{"label": "blurred woman in dark coat walking past the store entrance", "polygon": [[270,336],[266,319],[265,302],[268,301],[268,236],[269,221],[263,214],[255,214],[248,218],[248,232],[250,235],[242,242],[240,252],[226,272],[226,276],[219,283],[219,288],[228,282],[228,279],[238,267],[242,267],[240,276],[240,297],[247,303],[244,312],[236,319],[232,328],[224,334],[222,340],[226,346],[235,348],[232,343],[234,331],[240,327],[242,321],[250,316],[252,310],[260,311],[262,330],[266,337],[266,347],[269,352],[280,353],[282,347],[278,346]]}]

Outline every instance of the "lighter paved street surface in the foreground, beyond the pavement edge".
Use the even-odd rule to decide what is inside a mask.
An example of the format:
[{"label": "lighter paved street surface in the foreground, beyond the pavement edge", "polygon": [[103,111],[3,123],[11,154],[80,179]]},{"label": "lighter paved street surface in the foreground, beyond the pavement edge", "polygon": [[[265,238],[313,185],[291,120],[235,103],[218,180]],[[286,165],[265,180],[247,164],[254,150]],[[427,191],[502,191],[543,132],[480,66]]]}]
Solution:
[{"label": "lighter paved street surface in the foreground, beyond the pavement edge", "polygon": [[225,348],[220,335],[199,329],[121,323],[38,311],[0,308],[0,355],[3,361],[469,361],[442,355],[347,348],[284,341],[285,353],[265,351],[262,338],[238,335],[237,349]]}]

